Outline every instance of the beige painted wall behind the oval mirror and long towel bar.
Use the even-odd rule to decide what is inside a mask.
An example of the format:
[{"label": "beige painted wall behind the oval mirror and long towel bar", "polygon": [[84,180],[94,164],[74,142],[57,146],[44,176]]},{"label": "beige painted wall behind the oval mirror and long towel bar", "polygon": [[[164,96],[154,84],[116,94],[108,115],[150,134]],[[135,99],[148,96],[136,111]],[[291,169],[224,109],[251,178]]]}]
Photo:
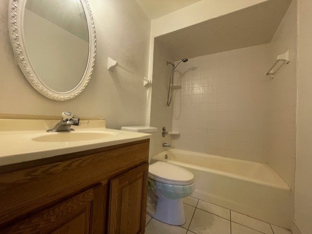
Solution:
[{"label": "beige painted wall behind the oval mirror and long towel bar", "polygon": [[[7,32],[8,1],[0,1],[0,113],[106,119],[107,126],[144,125],[150,20],[135,0],[89,0],[97,29],[97,60],[92,79],[74,100],[57,102],[39,94],[23,76]],[[107,71],[108,56],[137,75]]]}]

